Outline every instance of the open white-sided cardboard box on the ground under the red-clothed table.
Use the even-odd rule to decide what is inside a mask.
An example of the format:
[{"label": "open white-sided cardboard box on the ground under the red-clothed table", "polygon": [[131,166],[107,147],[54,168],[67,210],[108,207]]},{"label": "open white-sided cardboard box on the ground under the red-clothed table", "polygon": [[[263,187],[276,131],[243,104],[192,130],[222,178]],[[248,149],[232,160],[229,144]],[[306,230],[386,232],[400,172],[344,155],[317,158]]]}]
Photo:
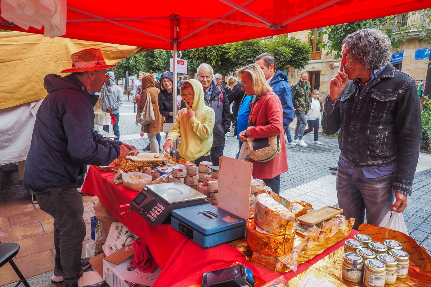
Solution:
[{"label": "open white-sided cardboard box on the ground under the red-clothed table", "polygon": [[110,287],[129,287],[126,281],[137,284],[136,287],[153,286],[162,270],[157,268],[153,273],[138,269],[129,271],[127,268],[133,256],[133,244],[129,244],[106,257],[105,253],[101,253],[90,259],[90,263]]}]

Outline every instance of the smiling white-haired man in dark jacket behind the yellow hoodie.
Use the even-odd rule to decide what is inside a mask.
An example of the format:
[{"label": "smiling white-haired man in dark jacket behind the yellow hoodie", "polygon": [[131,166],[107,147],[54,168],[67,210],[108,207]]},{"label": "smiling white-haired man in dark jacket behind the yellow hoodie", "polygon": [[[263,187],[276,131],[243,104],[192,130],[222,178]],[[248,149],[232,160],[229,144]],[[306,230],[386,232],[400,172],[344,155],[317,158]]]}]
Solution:
[{"label": "smiling white-haired man in dark jacket behind the yellow hoodie", "polygon": [[205,63],[200,64],[197,68],[197,79],[203,86],[205,105],[211,107],[215,114],[211,161],[212,165],[218,166],[219,158],[225,149],[225,133],[228,133],[231,127],[231,110],[225,91],[212,79],[213,73],[211,66]]}]

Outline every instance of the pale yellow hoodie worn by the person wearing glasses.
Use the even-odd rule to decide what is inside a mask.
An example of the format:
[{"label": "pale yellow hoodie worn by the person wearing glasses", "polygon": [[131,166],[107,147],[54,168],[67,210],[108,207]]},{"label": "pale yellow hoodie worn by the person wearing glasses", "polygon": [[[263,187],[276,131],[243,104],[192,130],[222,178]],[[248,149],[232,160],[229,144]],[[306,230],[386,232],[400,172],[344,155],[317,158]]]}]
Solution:
[{"label": "pale yellow hoodie worn by the person wearing glasses", "polygon": [[[188,160],[197,160],[199,157],[209,155],[212,147],[212,129],[214,128],[214,110],[205,105],[203,87],[198,80],[187,80],[194,90],[193,106],[186,103],[175,117],[174,126],[169,131],[166,140],[175,142],[181,136],[178,151],[181,157]],[[183,93],[181,86],[180,95]],[[193,108],[195,116],[187,118],[187,111]]]}]

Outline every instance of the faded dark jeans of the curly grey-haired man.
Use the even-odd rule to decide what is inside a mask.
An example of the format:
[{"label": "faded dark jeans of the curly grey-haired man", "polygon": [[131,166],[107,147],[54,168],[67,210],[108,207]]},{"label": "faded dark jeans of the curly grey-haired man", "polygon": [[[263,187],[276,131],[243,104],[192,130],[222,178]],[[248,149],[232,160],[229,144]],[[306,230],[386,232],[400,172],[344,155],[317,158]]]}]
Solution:
[{"label": "faded dark jeans of the curly grey-haired man", "polygon": [[373,179],[355,178],[338,164],[337,198],[346,219],[356,218],[353,229],[358,230],[364,223],[365,210],[367,223],[378,226],[394,202],[392,183],[394,173]]}]

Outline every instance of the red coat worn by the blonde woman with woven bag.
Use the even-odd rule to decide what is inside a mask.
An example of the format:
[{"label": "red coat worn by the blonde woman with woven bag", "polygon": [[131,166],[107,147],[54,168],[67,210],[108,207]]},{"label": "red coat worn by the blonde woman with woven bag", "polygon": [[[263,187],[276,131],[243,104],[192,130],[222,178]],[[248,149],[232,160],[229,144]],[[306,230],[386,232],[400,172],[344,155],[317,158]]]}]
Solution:
[{"label": "red coat worn by the blonde woman with woven bag", "polygon": [[253,178],[272,179],[288,170],[286,143],[284,142],[283,108],[278,96],[273,92],[268,92],[253,108],[251,118],[255,123],[255,126],[250,128],[251,137],[265,138],[280,135],[281,151],[278,156],[267,162],[250,159],[253,164]]}]

